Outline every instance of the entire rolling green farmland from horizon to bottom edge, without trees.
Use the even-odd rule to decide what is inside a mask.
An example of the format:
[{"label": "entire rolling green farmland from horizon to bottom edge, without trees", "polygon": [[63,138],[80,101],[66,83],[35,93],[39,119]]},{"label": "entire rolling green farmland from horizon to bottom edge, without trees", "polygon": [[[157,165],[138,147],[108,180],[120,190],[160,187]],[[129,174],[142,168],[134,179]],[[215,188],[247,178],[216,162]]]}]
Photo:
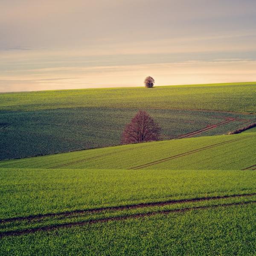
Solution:
[{"label": "entire rolling green farmland from horizon to bottom edge, without trees", "polygon": [[[256,254],[256,83],[143,92],[0,94],[0,159],[43,155],[0,161],[1,255]],[[139,108],[162,140],[117,145]]]}]

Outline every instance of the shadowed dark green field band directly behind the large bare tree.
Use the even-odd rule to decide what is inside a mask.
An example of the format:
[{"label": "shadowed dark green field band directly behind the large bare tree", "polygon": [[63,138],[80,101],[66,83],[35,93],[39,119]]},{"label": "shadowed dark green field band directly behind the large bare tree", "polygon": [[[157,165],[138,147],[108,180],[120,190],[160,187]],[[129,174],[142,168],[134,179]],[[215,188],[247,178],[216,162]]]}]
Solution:
[{"label": "shadowed dark green field band directly behind the large bare tree", "polygon": [[[47,155],[88,148],[119,145],[123,128],[135,115],[134,108],[67,108],[41,111],[0,111],[1,122],[9,126],[0,130],[0,159]],[[197,136],[225,134],[245,125],[252,115],[147,109],[162,128],[162,139],[200,131],[236,119],[226,125],[207,128]],[[255,119],[255,116],[254,116]],[[240,121],[239,121],[240,120]]]}]

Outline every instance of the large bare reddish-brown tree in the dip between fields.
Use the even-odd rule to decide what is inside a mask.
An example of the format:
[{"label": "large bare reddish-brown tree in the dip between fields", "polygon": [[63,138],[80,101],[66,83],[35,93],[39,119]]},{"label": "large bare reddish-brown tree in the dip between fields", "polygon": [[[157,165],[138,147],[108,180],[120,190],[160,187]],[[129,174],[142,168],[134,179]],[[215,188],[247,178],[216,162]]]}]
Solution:
[{"label": "large bare reddish-brown tree in the dip between fields", "polygon": [[140,110],[131,119],[131,122],[125,125],[122,133],[121,143],[139,143],[158,140],[161,128],[154,122],[146,111]]}]

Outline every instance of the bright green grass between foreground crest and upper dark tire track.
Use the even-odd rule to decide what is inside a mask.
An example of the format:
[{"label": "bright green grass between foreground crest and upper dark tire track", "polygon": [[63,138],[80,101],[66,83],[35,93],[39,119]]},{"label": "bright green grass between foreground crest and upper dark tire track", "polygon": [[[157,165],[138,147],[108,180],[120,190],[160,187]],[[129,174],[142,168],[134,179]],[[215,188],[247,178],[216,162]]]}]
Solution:
[{"label": "bright green grass between foreground crest and upper dark tire track", "polygon": [[256,192],[251,170],[0,169],[0,174],[0,219]]}]

